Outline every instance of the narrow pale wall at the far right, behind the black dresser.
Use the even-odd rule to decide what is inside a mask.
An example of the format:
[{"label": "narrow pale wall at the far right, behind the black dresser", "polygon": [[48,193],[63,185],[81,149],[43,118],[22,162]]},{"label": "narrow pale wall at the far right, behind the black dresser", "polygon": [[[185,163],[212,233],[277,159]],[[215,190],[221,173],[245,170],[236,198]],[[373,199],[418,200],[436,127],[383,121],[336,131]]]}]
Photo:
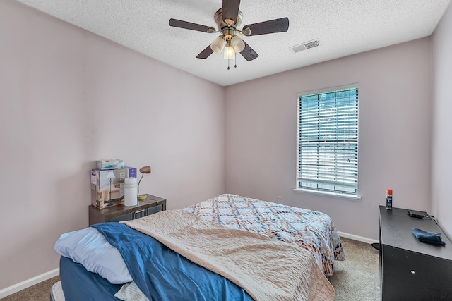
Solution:
[{"label": "narrow pale wall at the far right, behind the black dresser", "polygon": [[452,239],[452,6],[434,31],[434,119],[432,130],[432,212]]}]

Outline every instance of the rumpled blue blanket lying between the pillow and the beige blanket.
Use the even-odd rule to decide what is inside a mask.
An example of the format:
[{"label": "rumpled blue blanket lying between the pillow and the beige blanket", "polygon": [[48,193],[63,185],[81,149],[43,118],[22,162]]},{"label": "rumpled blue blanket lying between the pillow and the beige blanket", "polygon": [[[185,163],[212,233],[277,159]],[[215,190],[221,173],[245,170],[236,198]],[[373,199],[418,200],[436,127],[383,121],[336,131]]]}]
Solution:
[{"label": "rumpled blue blanket lying between the pillow and the beige blanket", "polygon": [[123,223],[92,225],[121,253],[149,300],[253,300],[243,288]]}]

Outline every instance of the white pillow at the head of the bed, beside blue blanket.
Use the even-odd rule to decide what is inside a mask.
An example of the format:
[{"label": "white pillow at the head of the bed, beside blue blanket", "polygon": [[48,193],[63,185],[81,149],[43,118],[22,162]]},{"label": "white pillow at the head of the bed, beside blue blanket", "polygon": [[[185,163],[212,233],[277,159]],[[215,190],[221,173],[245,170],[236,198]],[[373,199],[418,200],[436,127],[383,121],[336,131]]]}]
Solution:
[{"label": "white pillow at the head of the bed, beside blue blanket", "polygon": [[55,250],[113,284],[133,280],[121,253],[95,228],[88,227],[62,234],[55,243]]}]

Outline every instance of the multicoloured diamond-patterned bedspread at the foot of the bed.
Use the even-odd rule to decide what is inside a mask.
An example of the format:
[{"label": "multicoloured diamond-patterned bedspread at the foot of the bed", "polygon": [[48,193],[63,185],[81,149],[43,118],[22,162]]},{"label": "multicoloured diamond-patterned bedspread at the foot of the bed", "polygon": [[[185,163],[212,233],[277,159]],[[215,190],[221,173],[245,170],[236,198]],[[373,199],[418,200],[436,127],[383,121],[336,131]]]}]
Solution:
[{"label": "multicoloured diamond-patterned bedspread at the foot of the bed", "polygon": [[309,250],[323,274],[333,275],[334,260],[345,254],[331,218],[318,211],[239,195],[219,195],[184,208],[227,228],[244,229]]}]

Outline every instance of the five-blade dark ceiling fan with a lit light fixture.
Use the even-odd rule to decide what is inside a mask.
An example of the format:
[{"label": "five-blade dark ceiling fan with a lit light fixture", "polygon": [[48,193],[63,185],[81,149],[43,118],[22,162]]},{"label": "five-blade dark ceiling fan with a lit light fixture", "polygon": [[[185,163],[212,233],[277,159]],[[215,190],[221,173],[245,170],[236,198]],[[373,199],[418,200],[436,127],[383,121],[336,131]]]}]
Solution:
[{"label": "five-blade dark ceiling fan with a lit light fixture", "polygon": [[[222,7],[218,9],[214,16],[215,22],[218,25],[218,30],[215,30],[213,27],[173,18],[169,19],[169,26],[207,33],[221,32],[220,37],[217,37],[212,44],[196,56],[198,59],[207,59],[208,56],[213,54],[214,51],[216,53],[221,53],[224,49],[225,59],[234,59],[235,54],[239,52],[246,59],[246,61],[252,61],[259,55],[256,51],[249,47],[243,39],[238,37],[237,34],[249,37],[252,35],[266,35],[275,32],[286,32],[289,29],[289,18],[285,17],[249,24],[245,25],[242,30],[239,30],[243,16],[242,11],[239,11],[239,6],[240,0],[222,0]],[[229,69],[229,66],[227,69]]]}]

